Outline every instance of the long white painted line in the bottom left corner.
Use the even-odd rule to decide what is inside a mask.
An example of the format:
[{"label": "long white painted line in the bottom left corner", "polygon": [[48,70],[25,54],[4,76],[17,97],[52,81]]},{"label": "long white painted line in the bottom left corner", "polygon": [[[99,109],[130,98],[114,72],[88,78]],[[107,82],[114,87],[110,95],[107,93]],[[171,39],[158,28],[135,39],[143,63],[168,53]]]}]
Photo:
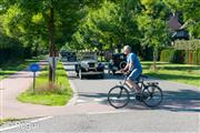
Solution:
[{"label": "long white painted line in the bottom left corner", "polygon": [[46,117],[41,117],[41,119],[37,119],[37,120],[33,120],[33,121],[30,121],[30,122],[27,122],[27,123],[18,123],[16,125],[12,125],[12,126],[9,126],[9,127],[3,127],[3,129],[0,129],[0,132],[2,131],[8,131],[8,130],[12,130],[12,129],[17,129],[17,127],[22,127],[26,125],[30,125],[32,123],[37,123],[37,122],[41,122],[41,121],[44,121],[44,120],[48,120],[48,119],[51,119],[52,116],[46,116]]}]

